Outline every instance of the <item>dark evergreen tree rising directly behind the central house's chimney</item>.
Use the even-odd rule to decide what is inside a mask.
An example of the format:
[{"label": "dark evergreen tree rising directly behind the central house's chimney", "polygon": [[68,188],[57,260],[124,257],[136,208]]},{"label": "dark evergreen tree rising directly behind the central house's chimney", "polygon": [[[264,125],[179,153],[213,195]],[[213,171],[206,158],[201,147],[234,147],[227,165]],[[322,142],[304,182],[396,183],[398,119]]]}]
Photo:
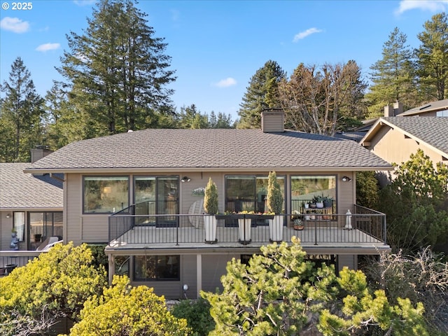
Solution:
[{"label": "dark evergreen tree rising directly behind the central house's chimney", "polygon": [[285,76],[279,64],[271,60],[255,72],[239,104],[238,128],[260,128],[261,112],[280,107],[276,90],[280,80]]}]

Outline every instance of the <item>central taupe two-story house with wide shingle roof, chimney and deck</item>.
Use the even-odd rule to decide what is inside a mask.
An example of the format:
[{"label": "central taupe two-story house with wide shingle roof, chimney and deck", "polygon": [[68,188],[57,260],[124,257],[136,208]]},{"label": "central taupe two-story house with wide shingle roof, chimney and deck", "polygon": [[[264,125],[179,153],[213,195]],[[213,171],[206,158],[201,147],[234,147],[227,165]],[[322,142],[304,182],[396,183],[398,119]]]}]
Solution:
[{"label": "central taupe two-story house with wide shingle roof, chimney and deck", "polygon": [[[309,258],[337,269],[356,268],[358,255],[390,251],[385,215],[354,205],[355,173],[387,169],[355,141],[283,130],[283,114],[272,111],[262,114],[262,130],[141,130],[78,141],[25,172],[64,174],[64,241],[106,243],[110,276],[127,274],[179,298],[187,286],[188,297],[214,291],[229,260],[247,260],[270,240],[296,235]],[[264,212],[271,171],[284,196],[280,231],[274,235],[264,218],[246,218],[239,228],[244,221],[221,216],[207,239],[195,194],[209,178],[221,213]],[[305,209],[316,195],[334,200]],[[296,211],[304,230],[293,228]]]}]

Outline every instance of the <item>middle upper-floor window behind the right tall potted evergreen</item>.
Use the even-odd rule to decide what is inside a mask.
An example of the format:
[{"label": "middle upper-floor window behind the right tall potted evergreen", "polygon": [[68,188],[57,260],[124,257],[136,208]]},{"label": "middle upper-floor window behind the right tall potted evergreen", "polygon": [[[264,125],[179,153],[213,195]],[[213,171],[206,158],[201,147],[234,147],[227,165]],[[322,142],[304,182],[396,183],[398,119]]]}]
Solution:
[{"label": "middle upper-floor window behind the right tall potted evergreen", "polygon": [[[285,178],[277,176],[277,181],[284,200]],[[226,176],[225,211],[269,211],[266,200],[267,183],[267,176]]]}]

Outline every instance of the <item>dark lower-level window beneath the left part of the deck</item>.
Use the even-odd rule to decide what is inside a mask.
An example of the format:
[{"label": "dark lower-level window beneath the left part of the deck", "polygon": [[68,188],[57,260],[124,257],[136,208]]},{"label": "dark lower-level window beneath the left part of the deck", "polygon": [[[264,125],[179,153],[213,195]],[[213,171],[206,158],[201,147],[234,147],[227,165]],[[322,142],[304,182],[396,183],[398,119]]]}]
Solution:
[{"label": "dark lower-level window beneath the left part of the deck", "polygon": [[180,255],[135,255],[134,281],[180,280]]}]

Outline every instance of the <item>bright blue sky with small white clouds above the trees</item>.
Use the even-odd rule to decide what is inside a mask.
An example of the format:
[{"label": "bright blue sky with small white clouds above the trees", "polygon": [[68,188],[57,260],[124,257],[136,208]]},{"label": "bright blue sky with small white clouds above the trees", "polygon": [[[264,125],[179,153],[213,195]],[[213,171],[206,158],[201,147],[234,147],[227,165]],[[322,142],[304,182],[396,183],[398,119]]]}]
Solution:
[{"label": "bright blue sky with small white clouds above the trees", "polygon": [[[66,34],[83,34],[95,1],[25,1],[31,9],[22,10],[13,9],[14,1],[0,2],[1,83],[22,57],[44,96],[52,80],[62,79],[55,66],[68,48]],[[424,22],[447,11],[448,0],[141,0],[137,7],[148,14],[154,36],[168,43],[177,108],[195,104],[202,113],[230,113],[235,120],[251,76],[267,60],[289,75],[301,62],[354,59],[367,76],[395,27],[412,48],[418,46]]]}]

